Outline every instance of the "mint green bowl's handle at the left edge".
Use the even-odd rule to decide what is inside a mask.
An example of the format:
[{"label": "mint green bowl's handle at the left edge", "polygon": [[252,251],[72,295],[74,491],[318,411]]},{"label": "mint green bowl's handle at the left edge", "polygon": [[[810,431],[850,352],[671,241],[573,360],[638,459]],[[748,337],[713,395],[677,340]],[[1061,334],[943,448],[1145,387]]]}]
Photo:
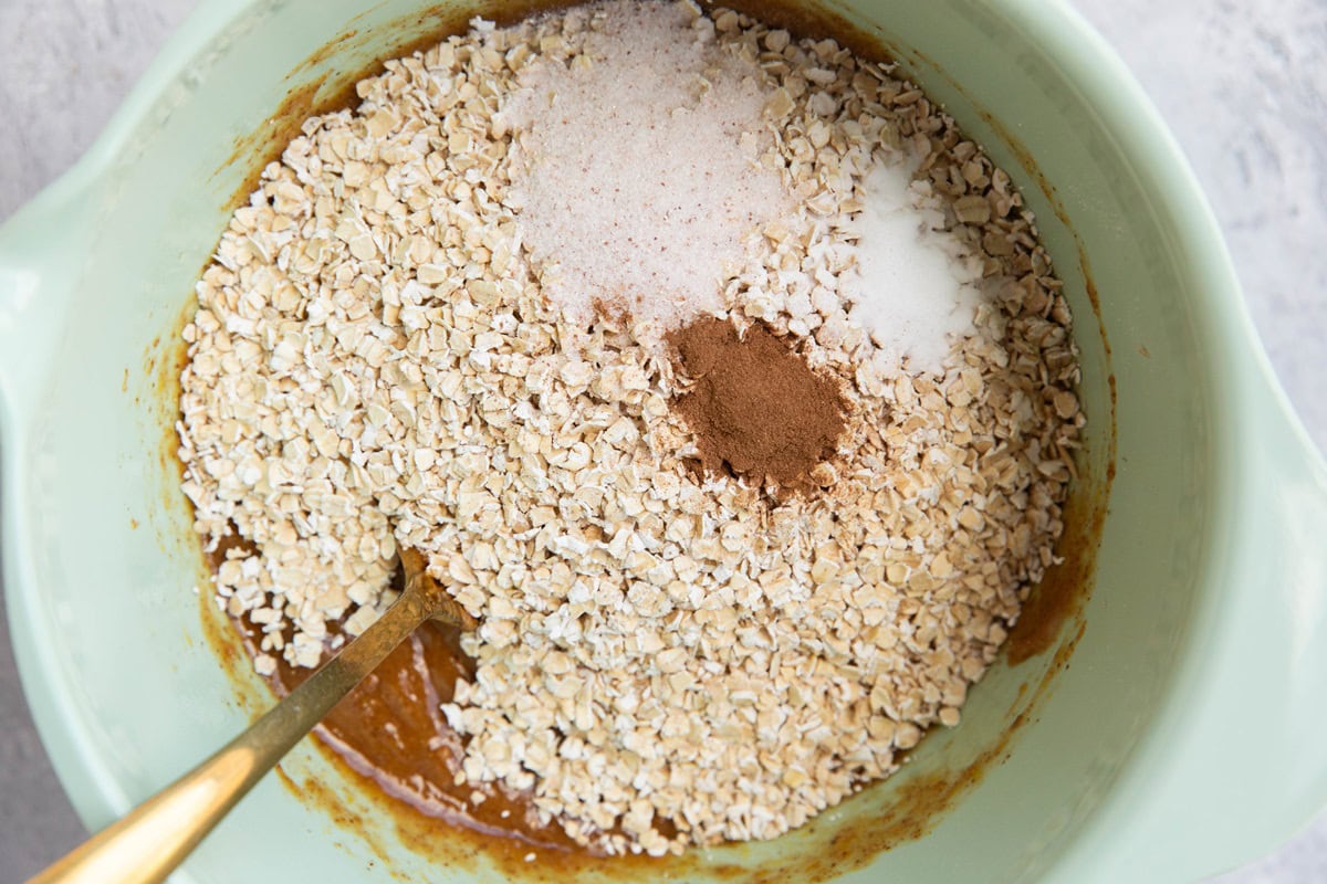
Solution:
[{"label": "mint green bowl's handle at the left edge", "polygon": [[11,419],[31,414],[42,396],[96,231],[93,190],[85,175],[70,172],[0,228],[0,404]]}]

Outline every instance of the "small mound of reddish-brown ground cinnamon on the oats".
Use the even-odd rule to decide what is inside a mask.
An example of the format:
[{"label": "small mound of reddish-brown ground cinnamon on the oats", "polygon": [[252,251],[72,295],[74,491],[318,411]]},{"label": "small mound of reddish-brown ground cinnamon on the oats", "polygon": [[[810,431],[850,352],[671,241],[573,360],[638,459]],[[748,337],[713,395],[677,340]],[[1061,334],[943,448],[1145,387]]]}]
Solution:
[{"label": "small mound of reddish-brown ground cinnamon on the oats", "polygon": [[802,490],[833,455],[847,404],[766,325],[738,333],[706,317],[667,335],[691,386],[673,400],[697,436],[703,469]]}]

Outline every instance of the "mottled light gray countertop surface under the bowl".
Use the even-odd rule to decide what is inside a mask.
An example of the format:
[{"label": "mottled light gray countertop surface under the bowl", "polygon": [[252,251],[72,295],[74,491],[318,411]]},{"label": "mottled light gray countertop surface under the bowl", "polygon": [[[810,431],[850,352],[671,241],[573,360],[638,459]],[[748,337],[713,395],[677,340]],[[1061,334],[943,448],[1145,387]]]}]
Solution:
[{"label": "mottled light gray countertop surface under the bowl", "polygon": [[[1271,362],[1327,447],[1327,0],[1071,0],[1169,121]],[[194,0],[0,0],[0,221],[101,131]],[[32,728],[0,608],[0,881],[84,836]],[[1220,884],[1327,880],[1327,815]]]}]

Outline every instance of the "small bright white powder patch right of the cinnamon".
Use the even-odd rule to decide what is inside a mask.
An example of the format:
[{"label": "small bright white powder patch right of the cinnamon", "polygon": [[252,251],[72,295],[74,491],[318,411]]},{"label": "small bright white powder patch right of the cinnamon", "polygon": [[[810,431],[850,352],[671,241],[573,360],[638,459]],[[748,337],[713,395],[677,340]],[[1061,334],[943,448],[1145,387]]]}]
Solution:
[{"label": "small bright white powder patch right of the cinnamon", "polygon": [[892,151],[877,158],[863,183],[855,219],[860,276],[845,294],[852,318],[880,347],[885,372],[942,374],[955,338],[974,330],[982,298],[982,264],[943,224],[929,182],[913,182],[914,163]]}]

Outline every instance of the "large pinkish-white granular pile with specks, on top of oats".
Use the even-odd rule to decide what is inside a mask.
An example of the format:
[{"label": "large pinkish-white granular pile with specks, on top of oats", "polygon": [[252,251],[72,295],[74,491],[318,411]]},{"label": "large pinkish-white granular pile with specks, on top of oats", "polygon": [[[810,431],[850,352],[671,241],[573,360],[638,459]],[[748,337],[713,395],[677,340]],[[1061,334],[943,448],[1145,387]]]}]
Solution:
[{"label": "large pinkish-white granular pile with specks, on top of oats", "polygon": [[763,73],[682,4],[589,7],[569,42],[584,54],[531,64],[503,107],[519,231],[545,294],[576,325],[596,302],[660,331],[722,310],[759,227],[792,205],[760,164]]}]

